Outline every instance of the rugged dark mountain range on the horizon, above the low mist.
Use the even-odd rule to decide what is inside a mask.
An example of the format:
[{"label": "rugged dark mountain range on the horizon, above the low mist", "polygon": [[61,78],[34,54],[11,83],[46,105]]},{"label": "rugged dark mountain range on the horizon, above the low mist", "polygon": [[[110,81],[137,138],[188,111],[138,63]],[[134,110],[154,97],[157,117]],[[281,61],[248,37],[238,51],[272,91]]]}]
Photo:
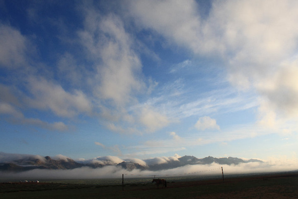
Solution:
[{"label": "rugged dark mountain range on the horizon, above the low mist", "polygon": [[[121,160],[121,159],[119,159]],[[220,165],[238,165],[249,162],[262,162],[257,159],[243,160],[240,158],[214,158],[214,157],[205,157],[205,158],[196,158],[194,156],[183,156],[177,159],[169,159],[163,163],[146,163],[139,164],[134,161],[123,161],[118,163],[117,161],[111,161],[111,158],[101,158],[100,161],[87,161],[87,162],[76,162],[71,158],[63,159],[52,159],[49,156],[44,158],[36,158],[34,156],[27,157],[24,159],[10,160],[9,162],[0,162],[0,171],[2,172],[23,172],[33,169],[50,169],[50,170],[68,170],[76,169],[80,167],[90,167],[90,168],[102,168],[105,166],[116,166],[121,167],[125,170],[132,171],[134,169],[139,170],[149,170],[149,171],[158,171],[165,169],[173,169],[177,167],[182,167],[185,165],[208,165],[212,163],[217,163]],[[148,161],[149,162],[149,161]]]}]

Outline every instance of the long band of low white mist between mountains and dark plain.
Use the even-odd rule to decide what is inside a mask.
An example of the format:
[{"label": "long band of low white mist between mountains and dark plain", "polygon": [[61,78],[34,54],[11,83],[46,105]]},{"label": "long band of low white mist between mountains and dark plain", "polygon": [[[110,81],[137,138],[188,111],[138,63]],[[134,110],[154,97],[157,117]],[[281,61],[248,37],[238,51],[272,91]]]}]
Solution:
[{"label": "long band of low white mist between mountains and dark plain", "polygon": [[105,166],[102,168],[92,169],[90,167],[81,167],[72,170],[50,170],[34,169],[19,173],[0,173],[2,180],[42,180],[42,179],[106,179],[106,178],[151,178],[156,175],[158,178],[191,176],[191,175],[224,175],[230,174],[249,174],[249,173],[267,173],[297,170],[296,162],[250,162],[238,165],[219,165],[216,163],[210,165],[186,165],[168,170],[149,171],[149,170],[132,170],[128,171],[119,166]]}]

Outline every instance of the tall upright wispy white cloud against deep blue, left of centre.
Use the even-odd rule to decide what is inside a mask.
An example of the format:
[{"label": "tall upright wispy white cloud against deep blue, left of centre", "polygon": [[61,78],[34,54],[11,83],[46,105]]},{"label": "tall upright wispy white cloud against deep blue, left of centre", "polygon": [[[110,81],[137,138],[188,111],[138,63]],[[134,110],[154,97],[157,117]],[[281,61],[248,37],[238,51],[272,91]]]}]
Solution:
[{"label": "tall upright wispy white cloud against deep blue, left of centre", "polygon": [[130,102],[132,92],[145,86],[139,78],[141,61],[133,49],[133,39],[123,26],[119,17],[104,17],[89,7],[85,30],[79,32],[82,45],[97,65],[95,94],[100,99],[112,100],[116,107]]}]

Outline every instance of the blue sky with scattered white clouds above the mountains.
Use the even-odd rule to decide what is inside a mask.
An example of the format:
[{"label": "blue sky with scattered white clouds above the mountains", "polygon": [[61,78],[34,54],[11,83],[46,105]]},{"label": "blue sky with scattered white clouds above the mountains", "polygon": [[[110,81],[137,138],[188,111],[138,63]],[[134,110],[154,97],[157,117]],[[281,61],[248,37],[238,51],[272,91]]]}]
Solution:
[{"label": "blue sky with scattered white clouds above the mountains", "polygon": [[298,1],[0,0],[0,152],[298,163]]}]

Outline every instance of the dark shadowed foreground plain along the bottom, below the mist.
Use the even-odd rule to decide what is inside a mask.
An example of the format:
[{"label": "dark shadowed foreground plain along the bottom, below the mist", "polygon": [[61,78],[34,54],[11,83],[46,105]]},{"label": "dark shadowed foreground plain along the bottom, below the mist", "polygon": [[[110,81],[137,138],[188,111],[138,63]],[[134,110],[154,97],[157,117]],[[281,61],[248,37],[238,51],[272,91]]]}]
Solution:
[{"label": "dark shadowed foreground plain along the bottom, below the mist", "polygon": [[193,182],[95,186],[58,183],[0,184],[0,199],[298,199],[298,172]]}]

